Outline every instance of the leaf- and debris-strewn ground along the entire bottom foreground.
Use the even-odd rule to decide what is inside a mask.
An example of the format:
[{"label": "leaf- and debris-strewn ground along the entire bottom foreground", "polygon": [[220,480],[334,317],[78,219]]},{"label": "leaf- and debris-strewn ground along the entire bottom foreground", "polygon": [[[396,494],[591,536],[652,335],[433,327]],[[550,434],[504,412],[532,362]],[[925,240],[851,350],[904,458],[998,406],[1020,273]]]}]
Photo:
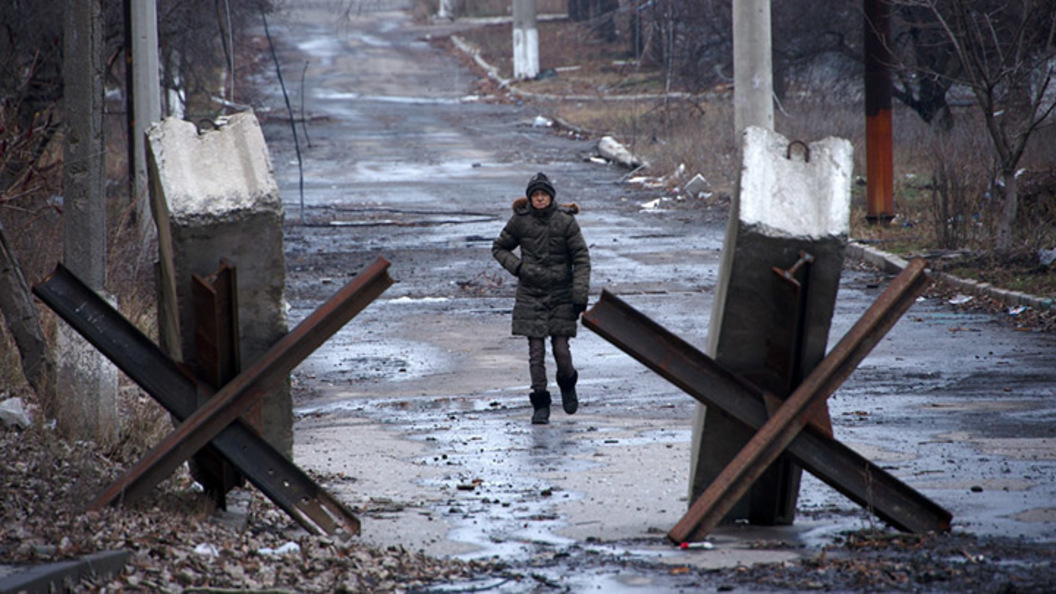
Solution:
[{"label": "leaf- and debris-strewn ground along the entire bottom foreground", "polygon": [[[536,571],[568,552],[510,567],[312,536],[253,489],[233,491],[237,512],[215,513],[186,472],[135,508],[83,513],[86,499],[119,470],[113,460],[93,444],[69,444],[39,427],[3,429],[0,446],[0,559],[8,573],[100,551],[131,552],[120,574],[86,578],[75,592],[568,591]],[[659,576],[680,591],[1056,590],[1050,545],[960,534],[863,531],[809,559],[724,570],[603,555],[592,564]]]}]

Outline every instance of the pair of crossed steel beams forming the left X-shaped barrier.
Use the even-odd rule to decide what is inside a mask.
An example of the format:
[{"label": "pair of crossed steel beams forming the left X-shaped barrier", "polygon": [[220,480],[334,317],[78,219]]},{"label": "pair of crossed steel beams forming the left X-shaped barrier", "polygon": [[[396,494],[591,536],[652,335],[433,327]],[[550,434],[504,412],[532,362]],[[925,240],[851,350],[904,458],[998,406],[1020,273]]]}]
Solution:
[{"label": "pair of crossed steel beams forming the left X-shaped barrier", "polygon": [[208,443],[314,534],[356,535],[359,520],[239,415],[393,284],[378,258],[202,407],[211,390],[169,358],[106,300],[59,264],[33,293],[176,419],[180,426],[100,494],[90,508],[132,502]]}]

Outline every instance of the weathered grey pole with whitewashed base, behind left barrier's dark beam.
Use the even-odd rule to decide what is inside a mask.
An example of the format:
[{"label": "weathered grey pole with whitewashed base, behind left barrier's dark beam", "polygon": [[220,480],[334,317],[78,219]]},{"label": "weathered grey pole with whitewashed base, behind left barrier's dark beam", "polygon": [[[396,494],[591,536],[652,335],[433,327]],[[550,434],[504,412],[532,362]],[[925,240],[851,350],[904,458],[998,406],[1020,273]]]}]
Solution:
[{"label": "weathered grey pole with whitewashed base, behind left barrier's dark beam", "polygon": [[[67,0],[62,26],[63,261],[101,293],[107,283],[101,0]],[[59,328],[59,427],[74,439],[112,443],[118,430],[117,372],[76,332],[64,324]]]}]

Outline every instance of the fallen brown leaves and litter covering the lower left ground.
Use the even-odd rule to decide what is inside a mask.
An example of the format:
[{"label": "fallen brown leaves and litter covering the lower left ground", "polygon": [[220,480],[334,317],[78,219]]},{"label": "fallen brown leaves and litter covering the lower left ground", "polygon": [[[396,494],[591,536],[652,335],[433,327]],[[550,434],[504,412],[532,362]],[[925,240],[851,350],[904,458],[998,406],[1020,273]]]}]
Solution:
[{"label": "fallen brown leaves and litter covering the lower left ground", "polygon": [[[163,483],[144,505],[83,512],[128,460],[92,443],[70,444],[48,429],[0,429],[0,559],[15,568],[127,549],[113,576],[86,577],[71,591],[181,592],[209,589],[299,592],[407,592],[432,583],[509,578],[488,561],[437,559],[403,547],[375,549],[357,539],[308,535],[256,489],[245,516],[216,515],[186,471]],[[271,553],[269,553],[271,552]],[[233,590],[231,590],[233,591]]]}]

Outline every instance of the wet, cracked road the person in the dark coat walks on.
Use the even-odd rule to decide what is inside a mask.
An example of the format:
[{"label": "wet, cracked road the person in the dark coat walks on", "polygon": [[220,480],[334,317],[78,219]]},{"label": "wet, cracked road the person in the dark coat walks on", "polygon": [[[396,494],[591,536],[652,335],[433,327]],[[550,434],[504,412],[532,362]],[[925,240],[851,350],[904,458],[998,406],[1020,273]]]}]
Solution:
[{"label": "wet, cracked road the person in the dark coat walks on", "polygon": [[[490,253],[529,175],[545,171],[559,202],[580,205],[591,300],[612,291],[695,345],[725,214],[643,208],[660,196],[586,162],[596,141],[534,127],[546,114],[531,104],[473,96],[476,74],[428,42],[455,25],[414,24],[399,3],[350,21],[327,1],[287,4],[271,33],[295,105],[305,69],[305,224],[278,86],[260,115],[286,208],[290,322],[376,257],[397,281],[293,377],[296,459],[359,513],[364,541],[497,557],[544,588],[657,591],[698,583],[678,568],[814,557],[879,524],[805,475],[796,525],[671,547],[695,401],[585,329],[572,341],[580,411],[530,425],[514,283]],[[833,344],[888,280],[848,265]],[[836,435],[948,508],[958,532],[1054,540],[1054,353],[1051,335],[923,299],[830,400]]]}]

